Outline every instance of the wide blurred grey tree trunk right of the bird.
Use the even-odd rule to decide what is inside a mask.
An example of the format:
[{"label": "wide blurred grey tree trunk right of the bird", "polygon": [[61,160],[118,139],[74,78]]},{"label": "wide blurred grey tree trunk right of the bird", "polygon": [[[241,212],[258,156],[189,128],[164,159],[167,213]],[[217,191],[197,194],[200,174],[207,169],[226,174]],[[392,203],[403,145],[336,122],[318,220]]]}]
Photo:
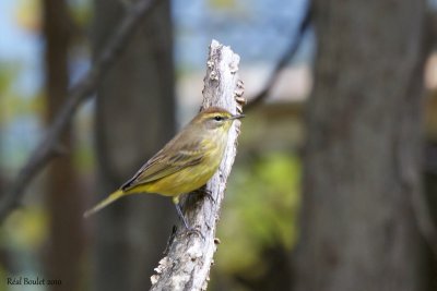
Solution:
[{"label": "wide blurred grey tree trunk right of the bird", "polygon": [[316,0],[296,290],[424,290],[425,1]]}]

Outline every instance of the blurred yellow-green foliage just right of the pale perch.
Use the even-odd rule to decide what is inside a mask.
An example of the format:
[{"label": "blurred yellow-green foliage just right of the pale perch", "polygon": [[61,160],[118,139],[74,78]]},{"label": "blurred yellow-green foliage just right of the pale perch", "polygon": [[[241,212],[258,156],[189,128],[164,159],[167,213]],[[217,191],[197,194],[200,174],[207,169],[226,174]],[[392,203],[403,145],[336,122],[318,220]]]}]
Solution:
[{"label": "blurred yellow-green foliage just right of the pale perch", "polygon": [[234,167],[218,229],[225,245],[217,252],[218,268],[262,272],[263,250],[294,246],[299,181],[300,162],[293,155],[265,154]]}]

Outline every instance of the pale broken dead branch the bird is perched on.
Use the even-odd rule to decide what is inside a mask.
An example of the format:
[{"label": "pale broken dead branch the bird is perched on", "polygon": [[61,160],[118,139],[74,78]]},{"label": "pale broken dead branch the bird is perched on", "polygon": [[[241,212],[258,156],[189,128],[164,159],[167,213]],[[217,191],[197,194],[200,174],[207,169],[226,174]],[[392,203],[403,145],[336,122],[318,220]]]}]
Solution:
[{"label": "pale broken dead branch the bird is perched on", "polygon": [[[233,113],[241,111],[243,83],[238,80],[239,57],[229,47],[213,40],[206,62],[202,108],[218,106]],[[239,121],[234,122],[227,148],[218,171],[204,191],[212,198],[190,194],[185,201],[186,217],[202,235],[177,233],[170,240],[166,256],[155,268],[151,290],[205,290],[210,268],[218,240],[215,239],[218,211],[224,197],[226,180],[236,155]],[[179,223],[178,229],[184,229]]]}]

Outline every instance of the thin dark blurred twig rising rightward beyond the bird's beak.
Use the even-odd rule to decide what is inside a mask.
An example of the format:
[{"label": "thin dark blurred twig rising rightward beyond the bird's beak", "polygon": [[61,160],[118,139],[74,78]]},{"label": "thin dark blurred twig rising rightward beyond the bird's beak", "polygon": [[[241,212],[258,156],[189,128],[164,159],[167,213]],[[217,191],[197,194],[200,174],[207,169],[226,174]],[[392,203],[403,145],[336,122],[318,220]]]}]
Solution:
[{"label": "thin dark blurred twig rising rightward beyond the bird's beak", "polygon": [[248,98],[248,104],[245,106],[245,110],[250,110],[257,105],[259,105],[262,100],[264,100],[271,93],[272,88],[274,87],[279,75],[281,72],[285,69],[286,64],[296,54],[302,40],[306,34],[306,32],[309,28],[309,25],[311,23],[311,17],[312,17],[312,12],[311,12],[311,5],[308,4],[307,11],[305,12],[305,16],[300,23],[299,29],[297,32],[297,35],[295,37],[292,37],[292,43],[287,47],[287,49],[284,51],[284,54],[277,61],[276,65],[274,66],[271,75],[269,76],[265,86],[263,89],[258,93],[255,97],[249,97]]}]

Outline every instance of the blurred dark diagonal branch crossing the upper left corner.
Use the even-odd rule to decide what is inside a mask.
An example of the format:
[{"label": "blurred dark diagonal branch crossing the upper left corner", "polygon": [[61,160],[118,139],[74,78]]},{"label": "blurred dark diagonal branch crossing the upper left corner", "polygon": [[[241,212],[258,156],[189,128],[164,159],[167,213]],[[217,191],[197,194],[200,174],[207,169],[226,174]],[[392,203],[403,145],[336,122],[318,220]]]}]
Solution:
[{"label": "blurred dark diagonal branch crossing the upper left corner", "polygon": [[20,205],[25,187],[40,170],[58,155],[59,137],[70,124],[78,108],[94,93],[97,84],[114,65],[140,21],[157,4],[157,0],[141,0],[132,4],[113,37],[96,58],[93,68],[68,93],[67,101],[48,129],[45,138],[32,153],[25,166],[0,198],[0,221]]}]

